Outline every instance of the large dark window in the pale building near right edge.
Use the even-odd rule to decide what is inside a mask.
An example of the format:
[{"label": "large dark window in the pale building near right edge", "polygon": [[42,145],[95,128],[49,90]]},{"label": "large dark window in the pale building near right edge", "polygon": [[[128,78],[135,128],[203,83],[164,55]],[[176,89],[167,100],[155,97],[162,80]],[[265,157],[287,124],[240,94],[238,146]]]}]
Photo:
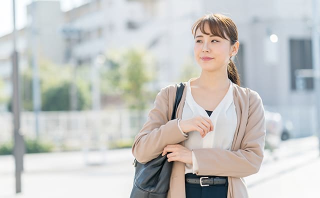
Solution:
[{"label": "large dark window in the pale building near right edge", "polygon": [[290,39],[290,74],[291,89],[313,89],[313,77],[297,78],[298,69],[312,68],[312,46],[310,39]]}]

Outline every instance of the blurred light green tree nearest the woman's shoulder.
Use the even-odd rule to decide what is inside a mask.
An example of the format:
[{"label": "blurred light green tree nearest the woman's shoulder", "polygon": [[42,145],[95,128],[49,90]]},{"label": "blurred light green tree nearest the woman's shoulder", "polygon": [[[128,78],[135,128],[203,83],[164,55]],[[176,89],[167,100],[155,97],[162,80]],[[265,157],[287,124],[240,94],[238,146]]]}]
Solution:
[{"label": "blurred light green tree nearest the woman's shoulder", "polygon": [[[102,72],[104,88],[109,94],[121,94],[130,109],[142,110],[150,99],[148,83],[154,79],[153,57],[144,50],[111,51],[107,69]],[[107,85],[107,86],[106,86]]]}]

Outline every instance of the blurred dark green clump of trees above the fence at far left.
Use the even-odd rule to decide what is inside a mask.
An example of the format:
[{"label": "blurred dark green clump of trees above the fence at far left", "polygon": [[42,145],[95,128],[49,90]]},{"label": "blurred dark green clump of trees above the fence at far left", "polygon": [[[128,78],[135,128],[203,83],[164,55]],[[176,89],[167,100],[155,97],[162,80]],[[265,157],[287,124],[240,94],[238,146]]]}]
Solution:
[{"label": "blurred dark green clump of trees above the fence at far left", "polygon": [[[39,63],[39,83],[41,91],[41,110],[69,110],[71,69],[70,65],[56,65],[48,61]],[[87,68],[79,68],[76,81],[77,110],[90,107],[90,87]],[[32,103],[32,70],[25,69],[21,74],[22,109],[33,110]],[[9,103],[11,109],[11,101]]]}]

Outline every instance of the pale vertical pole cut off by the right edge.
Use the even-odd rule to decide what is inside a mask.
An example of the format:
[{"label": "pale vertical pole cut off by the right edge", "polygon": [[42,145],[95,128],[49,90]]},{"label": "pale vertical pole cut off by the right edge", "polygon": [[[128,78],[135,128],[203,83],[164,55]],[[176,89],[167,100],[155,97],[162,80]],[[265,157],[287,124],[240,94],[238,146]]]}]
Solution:
[{"label": "pale vertical pole cut off by the right edge", "polygon": [[313,78],[315,90],[315,102],[317,113],[317,136],[319,141],[320,156],[320,19],[319,19],[319,0],[312,0],[312,68],[314,69]]}]

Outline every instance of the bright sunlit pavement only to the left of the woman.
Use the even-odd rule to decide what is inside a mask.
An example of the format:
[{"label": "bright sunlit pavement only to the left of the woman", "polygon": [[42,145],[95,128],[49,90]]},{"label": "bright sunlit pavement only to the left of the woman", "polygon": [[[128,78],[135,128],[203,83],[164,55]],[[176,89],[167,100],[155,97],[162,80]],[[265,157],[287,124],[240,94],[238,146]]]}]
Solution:
[{"label": "bright sunlit pavement only to the left of the woman", "polygon": [[[92,164],[101,158],[89,154]],[[86,165],[82,152],[26,154],[22,193],[15,195],[13,157],[0,156],[0,198],[128,197],[134,171],[130,149],[108,150],[105,160]]]}]

